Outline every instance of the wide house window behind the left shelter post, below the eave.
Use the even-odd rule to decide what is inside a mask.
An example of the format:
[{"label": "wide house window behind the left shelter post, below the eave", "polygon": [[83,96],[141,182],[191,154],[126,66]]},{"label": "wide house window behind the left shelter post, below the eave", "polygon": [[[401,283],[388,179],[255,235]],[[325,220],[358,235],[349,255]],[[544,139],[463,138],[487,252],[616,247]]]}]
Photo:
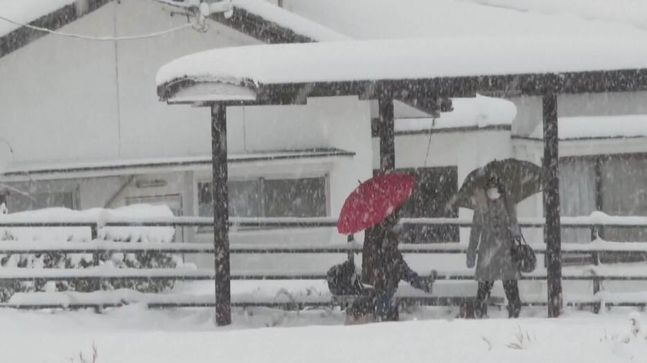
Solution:
[{"label": "wide house window behind the left shelter post, below the eave", "polygon": [[[327,216],[327,185],[326,176],[229,180],[229,216]],[[211,181],[197,183],[200,216],[213,216],[211,188]]]}]

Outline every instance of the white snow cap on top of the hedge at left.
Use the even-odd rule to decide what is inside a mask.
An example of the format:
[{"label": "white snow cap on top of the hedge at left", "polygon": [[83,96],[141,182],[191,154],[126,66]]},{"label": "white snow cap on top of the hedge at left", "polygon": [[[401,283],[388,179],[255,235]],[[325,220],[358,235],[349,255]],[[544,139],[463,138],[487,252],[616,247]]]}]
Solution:
[{"label": "white snow cap on top of the hedge at left", "polygon": [[[128,205],[114,210],[68,210],[46,208],[0,216],[0,222],[42,223],[73,222],[100,225],[106,221],[133,221],[137,218],[172,217],[166,205]],[[173,227],[99,227],[98,238],[114,241],[170,242],[175,234]],[[17,241],[89,241],[89,227],[0,227],[1,239]]]}]

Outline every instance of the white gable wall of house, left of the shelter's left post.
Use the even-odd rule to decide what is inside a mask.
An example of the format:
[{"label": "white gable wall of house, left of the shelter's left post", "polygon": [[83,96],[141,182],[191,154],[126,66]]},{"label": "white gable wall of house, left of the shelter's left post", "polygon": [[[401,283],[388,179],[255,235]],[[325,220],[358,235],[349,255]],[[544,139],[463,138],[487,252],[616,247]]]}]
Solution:
[{"label": "white gable wall of house, left of the shelter's left post", "polygon": [[[122,0],[60,29],[84,35],[140,35],[186,23],[154,1]],[[168,106],[154,76],[171,59],[257,41],[216,23],[115,44],[47,35],[0,58],[0,131],[12,161],[114,160],[209,153],[209,110]],[[119,112],[118,112],[119,109]],[[38,145],[38,147],[34,147]]]}]

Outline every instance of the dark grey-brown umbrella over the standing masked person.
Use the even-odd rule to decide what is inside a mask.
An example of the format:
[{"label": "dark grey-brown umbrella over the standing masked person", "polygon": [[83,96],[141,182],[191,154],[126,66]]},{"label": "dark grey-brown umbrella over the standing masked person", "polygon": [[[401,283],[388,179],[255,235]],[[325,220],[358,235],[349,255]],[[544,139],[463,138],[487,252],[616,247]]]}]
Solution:
[{"label": "dark grey-brown umbrella over the standing masked person", "polygon": [[513,204],[542,191],[542,167],[514,158],[494,160],[484,167],[472,170],[448,206],[458,205],[474,209],[472,196],[477,188],[485,189],[490,178],[499,180],[500,185],[504,187],[506,198]]}]

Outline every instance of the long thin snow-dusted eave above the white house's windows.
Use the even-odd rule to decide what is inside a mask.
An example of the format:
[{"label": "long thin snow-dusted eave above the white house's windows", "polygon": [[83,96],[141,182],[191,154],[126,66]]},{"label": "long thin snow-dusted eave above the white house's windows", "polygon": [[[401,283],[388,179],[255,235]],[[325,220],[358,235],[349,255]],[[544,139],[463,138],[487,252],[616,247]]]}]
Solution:
[{"label": "long thin snow-dusted eave above the white house's windows", "polygon": [[[230,154],[230,165],[249,164],[267,165],[276,162],[326,162],[335,158],[352,158],[353,151],[335,148],[320,148],[292,151],[271,151],[262,153]],[[118,176],[126,174],[150,174],[163,171],[186,171],[209,169],[211,156],[193,156],[186,158],[154,158],[137,160],[104,160],[97,162],[78,162],[76,164],[50,163],[34,167],[17,165],[8,167],[0,174],[1,181],[63,179],[73,177]]]}]

